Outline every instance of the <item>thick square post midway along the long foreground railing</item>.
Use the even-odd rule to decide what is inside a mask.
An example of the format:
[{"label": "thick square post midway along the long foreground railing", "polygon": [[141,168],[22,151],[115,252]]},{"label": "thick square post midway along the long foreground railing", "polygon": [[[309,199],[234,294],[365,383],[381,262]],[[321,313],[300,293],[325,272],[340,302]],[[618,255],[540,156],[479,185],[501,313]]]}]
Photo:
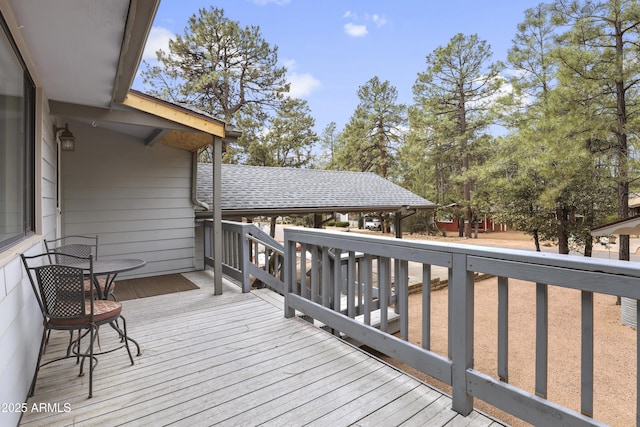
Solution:
[{"label": "thick square post midway along the long foreground railing", "polygon": [[473,410],[473,397],[467,392],[467,369],[473,368],[473,287],[473,272],[467,271],[467,256],[453,254],[449,282],[452,409],[464,416]]}]

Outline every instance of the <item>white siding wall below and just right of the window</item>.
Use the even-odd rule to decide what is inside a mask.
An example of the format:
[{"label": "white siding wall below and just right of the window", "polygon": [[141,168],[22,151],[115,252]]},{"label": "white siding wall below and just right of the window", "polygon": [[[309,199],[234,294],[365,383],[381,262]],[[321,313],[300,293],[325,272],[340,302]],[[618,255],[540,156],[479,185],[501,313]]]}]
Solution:
[{"label": "white siding wall below and just right of the window", "polygon": [[[46,132],[46,129],[51,129],[52,121],[41,93],[38,94],[38,102],[41,108],[37,117],[41,117],[42,123],[37,129],[40,137],[36,137],[40,142],[36,148],[36,177],[40,182],[36,197],[41,196],[41,201],[36,204],[39,234],[0,252],[0,404],[7,405],[26,401],[42,331],[42,315],[19,255],[42,252],[41,236],[55,235],[56,150],[51,133]],[[0,411],[1,426],[16,425],[19,418],[18,411]]]}]

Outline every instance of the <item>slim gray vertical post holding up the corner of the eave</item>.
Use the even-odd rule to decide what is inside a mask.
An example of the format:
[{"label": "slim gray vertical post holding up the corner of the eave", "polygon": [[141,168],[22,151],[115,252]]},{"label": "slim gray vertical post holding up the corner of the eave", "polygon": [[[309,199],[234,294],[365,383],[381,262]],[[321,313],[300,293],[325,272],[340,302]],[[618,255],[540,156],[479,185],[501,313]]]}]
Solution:
[{"label": "slim gray vertical post holding up the corner of the eave", "polygon": [[222,139],[213,137],[213,294],[222,295]]}]

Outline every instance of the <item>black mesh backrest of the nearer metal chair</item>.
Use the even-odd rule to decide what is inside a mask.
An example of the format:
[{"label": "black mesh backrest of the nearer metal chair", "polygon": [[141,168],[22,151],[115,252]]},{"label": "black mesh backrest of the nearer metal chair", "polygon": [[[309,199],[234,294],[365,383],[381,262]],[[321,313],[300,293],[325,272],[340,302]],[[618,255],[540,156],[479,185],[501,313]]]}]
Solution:
[{"label": "black mesh backrest of the nearer metal chair", "polygon": [[[45,319],[62,320],[93,316],[93,304],[87,312],[85,304],[84,278],[93,276],[93,255],[71,258],[71,264],[47,264],[49,253],[25,256],[21,255],[40,309]],[[83,269],[73,264],[88,263]],[[90,301],[93,301],[93,286],[90,287]]]}]

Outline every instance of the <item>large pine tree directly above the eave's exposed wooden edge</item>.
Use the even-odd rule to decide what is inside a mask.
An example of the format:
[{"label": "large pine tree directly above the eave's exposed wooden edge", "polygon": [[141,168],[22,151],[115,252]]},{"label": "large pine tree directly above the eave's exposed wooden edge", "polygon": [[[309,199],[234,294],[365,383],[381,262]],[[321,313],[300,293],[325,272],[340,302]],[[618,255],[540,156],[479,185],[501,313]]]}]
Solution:
[{"label": "large pine tree directly above the eave's exposed wooden edge", "polygon": [[289,91],[277,46],[262,38],[259,27],[242,28],[215,7],[192,15],[184,34],[169,41],[169,51],[159,50],[155,63],[143,67],[147,92],[227,123],[240,120],[241,112],[259,116],[277,109]]}]

